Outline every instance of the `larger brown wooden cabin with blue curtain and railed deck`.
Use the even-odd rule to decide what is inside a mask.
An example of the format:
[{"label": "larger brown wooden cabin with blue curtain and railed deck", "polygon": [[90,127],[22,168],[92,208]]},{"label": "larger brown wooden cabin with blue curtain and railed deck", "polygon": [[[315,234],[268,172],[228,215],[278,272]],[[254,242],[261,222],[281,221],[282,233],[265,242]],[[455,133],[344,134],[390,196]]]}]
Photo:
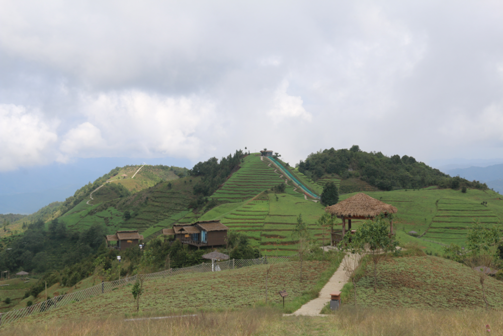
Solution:
[{"label": "larger brown wooden cabin with blue curtain and railed deck", "polygon": [[175,236],[182,244],[220,246],[227,243],[228,227],[219,221],[200,221],[193,224],[175,224],[171,229],[163,229],[163,235]]}]

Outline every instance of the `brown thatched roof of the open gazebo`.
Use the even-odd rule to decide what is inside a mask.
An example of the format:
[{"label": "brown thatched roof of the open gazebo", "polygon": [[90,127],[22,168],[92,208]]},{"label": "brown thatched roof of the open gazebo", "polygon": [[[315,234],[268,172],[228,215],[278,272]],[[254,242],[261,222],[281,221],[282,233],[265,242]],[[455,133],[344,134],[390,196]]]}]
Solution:
[{"label": "brown thatched roof of the open gazebo", "polygon": [[337,217],[374,218],[381,213],[395,214],[398,210],[389,204],[372,198],[363,192],[359,192],[352,197],[340,201],[338,204],[326,207],[325,211]]}]

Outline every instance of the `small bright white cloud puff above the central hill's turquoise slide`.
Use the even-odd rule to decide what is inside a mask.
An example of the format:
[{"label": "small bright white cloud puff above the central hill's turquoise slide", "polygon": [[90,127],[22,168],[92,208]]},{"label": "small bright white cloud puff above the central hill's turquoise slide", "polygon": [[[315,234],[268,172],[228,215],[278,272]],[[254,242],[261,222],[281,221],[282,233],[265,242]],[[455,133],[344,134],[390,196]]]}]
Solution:
[{"label": "small bright white cloud puff above the central hill's turquoise slide", "polygon": [[283,81],[275,93],[273,108],[268,116],[274,123],[280,123],[285,119],[302,119],[311,121],[312,115],[302,106],[302,98],[287,94],[288,81]]}]

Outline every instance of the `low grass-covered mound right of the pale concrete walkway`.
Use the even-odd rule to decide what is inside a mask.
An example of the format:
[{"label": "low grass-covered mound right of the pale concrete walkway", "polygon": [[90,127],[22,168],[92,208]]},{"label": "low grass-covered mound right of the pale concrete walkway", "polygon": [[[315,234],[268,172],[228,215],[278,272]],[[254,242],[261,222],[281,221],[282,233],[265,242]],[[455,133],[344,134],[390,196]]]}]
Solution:
[{"label": "low grass-covered mound right of the pale concrete walkway", "polygon": [[[352,288],[345,286],[346,290]],[[489,306],[503,309],[503,282],[488,278]],[[352,292],[352,290],[351,290]],[[345,304],[354,304],[353,293]],[[435,256],[390,257],[378,266],[374,293],[373,264],[357,282],[357,305],[364,307],[484,308],[479,278],[466,265]]]}]

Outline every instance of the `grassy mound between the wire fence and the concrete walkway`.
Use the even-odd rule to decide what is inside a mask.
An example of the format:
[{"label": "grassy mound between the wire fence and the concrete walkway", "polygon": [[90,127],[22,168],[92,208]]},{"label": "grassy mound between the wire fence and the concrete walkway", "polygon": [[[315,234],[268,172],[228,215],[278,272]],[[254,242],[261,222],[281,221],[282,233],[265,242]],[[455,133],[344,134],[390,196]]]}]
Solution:
[{"label": "grassy mound between the wire fence and the concrete walkway", "polygon": [[[140,299],[143,313],[158,311],[195,312],[249,307],[264,304],[266,273],[268,302],[280,306],[280,290],[287,290],[285,312],[297,310],[305,302],[317,297],[319,290],[337,269],[340,257],[332,261],[304,261],[300,282],[299,262],[284,262],[238,268],[221,272],[189,274],[145,281]],[[48,312],[37,313],[28,320],[44,321],[52,318],[117,316],[136,311],[131,285],[112,292],[75,302]]]}]

